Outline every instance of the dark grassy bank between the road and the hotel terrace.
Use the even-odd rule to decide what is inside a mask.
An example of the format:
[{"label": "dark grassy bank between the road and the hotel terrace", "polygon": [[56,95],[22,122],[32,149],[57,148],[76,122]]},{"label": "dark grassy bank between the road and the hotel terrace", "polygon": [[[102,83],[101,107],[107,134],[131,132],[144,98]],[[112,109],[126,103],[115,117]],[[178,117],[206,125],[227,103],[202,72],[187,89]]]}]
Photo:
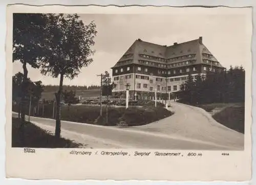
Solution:
[{"label": "dark grassy bank between the road and the hotel terrace", "polygon": [[[139,126],[152,123],[170,115],[173,112],[164,108],[163,104],[158,103],[155,107],[154,102],[140,103],[138,107],[114,107],[108,109],[108,121],[106,121],[106,107],[102,107],[102,117],[99,118],[100,106],[77,105],[77,106],[62,106],[61,120],[73,121],[78,123],[97,124],[104,126],[119,126],[120,122],[126,126]],[[13,111],[17,111],[13,106]],[[27,110],[28,112],[28,110]],[[46,105],[44,115],[42,115],[41,107],[38,110],[39,114],[31,114],[36,117],[53,118],[53,106]]]}]

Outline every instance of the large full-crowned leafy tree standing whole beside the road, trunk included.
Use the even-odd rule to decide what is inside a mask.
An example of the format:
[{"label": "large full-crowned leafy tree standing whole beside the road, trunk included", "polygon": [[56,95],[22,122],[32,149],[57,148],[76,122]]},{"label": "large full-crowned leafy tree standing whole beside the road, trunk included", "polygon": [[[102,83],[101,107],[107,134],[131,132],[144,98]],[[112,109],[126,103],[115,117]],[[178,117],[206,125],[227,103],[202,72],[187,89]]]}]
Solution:
[{"label": "large full-crowned leafy tree standing whole beside the road, trunk included", "polygon": [[55,136],[60,137],[60,97],[63,87],[63,78],[73,79],[82,67],[88,66],[93,59],[96,36],[96,25],[90,22],[84,25],[77,14],[48,14],[49,30],[48,48],[44,60],[40,62],[43,75],[49,74],[53,78],[60,77],[59,89],[56,98],[56,127]]}]

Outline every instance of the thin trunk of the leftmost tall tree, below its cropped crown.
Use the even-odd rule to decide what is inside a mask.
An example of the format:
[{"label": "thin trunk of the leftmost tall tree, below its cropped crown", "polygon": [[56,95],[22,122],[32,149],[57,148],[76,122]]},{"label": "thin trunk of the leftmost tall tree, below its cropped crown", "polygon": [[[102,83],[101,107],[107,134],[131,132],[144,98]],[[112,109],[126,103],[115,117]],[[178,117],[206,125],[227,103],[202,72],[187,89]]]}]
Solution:
[{"label": "thin trunk of the leftmost tall tree, below its cropped crown", "polygon": [[27,70],[27,63],[23,63],[23,81],[22,81],[22,98],[21,98],[21,118],[22,118],[22,125],[25,123],[25,110],[26,110],[26,105],[25,105],[25,96],[26,96],[26,85],[27,85],[27,79],[28,79],[28,70]]}]

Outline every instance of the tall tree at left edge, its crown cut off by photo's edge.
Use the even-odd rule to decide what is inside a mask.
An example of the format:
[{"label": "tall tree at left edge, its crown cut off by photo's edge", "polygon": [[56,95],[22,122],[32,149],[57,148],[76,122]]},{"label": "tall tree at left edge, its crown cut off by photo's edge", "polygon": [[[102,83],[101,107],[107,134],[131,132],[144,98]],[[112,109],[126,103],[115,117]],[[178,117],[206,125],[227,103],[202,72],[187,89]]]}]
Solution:
[{"label": "tall tree at left edge, its crown cut off by photo's edge", "polygon": [[[21,86],[21,117],[25,123],[25,89],[28,80],[27,64],[38,68],[37,61],[44,56],[46,16],[36,13],[13,14],[13,58],[23,64],[23,82]],[[22,124],[22,125],[23,125]]]}]

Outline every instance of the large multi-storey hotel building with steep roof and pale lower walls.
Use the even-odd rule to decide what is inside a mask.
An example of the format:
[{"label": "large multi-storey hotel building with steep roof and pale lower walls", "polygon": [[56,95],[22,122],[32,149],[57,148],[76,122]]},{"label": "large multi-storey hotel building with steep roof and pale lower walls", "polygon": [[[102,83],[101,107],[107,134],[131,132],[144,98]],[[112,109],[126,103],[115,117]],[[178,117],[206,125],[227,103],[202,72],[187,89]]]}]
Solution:
[{"label": "large multi-storey hotel building with steep roof and pale lower walls", "polygon": [[[210,53],[202,37],[173,45],[158,45],[137,39],[112,67],[116,88],[112,95],[125,98],[129,87],[131,99],[152,100],[177,97],[181,84],[188,74],[194,78],[207,71],[215,72],[224,67]],[[168,99],[168,98],[167,98]]]}]

